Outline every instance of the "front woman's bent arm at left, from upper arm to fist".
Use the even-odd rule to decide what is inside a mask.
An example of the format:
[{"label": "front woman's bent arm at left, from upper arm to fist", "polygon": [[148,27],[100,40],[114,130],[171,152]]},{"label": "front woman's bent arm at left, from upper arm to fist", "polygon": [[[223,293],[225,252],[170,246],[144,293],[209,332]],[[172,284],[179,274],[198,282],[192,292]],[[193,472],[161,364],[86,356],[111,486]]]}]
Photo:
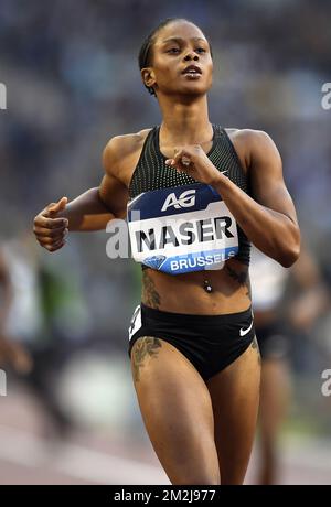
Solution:
[{"label": "front woman's bent arm at left, from upper arm to fist", "polygon": [[99,187],[89,188],[71,203],[63,197],[36,215],[33,231],[42,247],[58,250],[68,231],[102,230],[113,218],[126,215],[128,191],[116,173],[118,143],[118,138],[114,138],[104,150],[105,175]]}]

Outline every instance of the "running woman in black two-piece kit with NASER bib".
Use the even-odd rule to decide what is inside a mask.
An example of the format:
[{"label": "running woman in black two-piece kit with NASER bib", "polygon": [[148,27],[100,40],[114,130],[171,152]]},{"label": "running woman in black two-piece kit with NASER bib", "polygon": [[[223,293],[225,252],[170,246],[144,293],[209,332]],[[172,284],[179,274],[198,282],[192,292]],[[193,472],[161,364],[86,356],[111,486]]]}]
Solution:
[{"label": "running woman in black two-piece kit with NASER bib", "polygon": [[99,187],[47,205],[34,233],[55,251],[67,231],[127,216],[143,268],[129,355],[153,449],[172,484],[242,484],[260,377],[249,241],[290,267],[300,251],[296,211],[271,139],[209,120],[213,60],[195,24],[162,22],[139,65],[161,125],[113,138]]}]

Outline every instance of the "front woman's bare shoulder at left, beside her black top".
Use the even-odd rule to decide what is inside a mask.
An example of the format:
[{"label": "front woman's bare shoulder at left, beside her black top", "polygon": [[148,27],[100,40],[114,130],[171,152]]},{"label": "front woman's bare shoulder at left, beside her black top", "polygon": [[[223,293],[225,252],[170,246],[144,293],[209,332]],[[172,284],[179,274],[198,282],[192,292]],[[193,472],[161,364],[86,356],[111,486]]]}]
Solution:
[{"label": "front woman's bare shoulder at left, beside her black top", "polygon": [[[143,142],[151,129],[143,129],[139,132],[115,136],[111,138],[103,152],[105,171],[114,176],[122,173],[127,165],[138,162]],[[136,163],[137,163],[136,162]]]}]

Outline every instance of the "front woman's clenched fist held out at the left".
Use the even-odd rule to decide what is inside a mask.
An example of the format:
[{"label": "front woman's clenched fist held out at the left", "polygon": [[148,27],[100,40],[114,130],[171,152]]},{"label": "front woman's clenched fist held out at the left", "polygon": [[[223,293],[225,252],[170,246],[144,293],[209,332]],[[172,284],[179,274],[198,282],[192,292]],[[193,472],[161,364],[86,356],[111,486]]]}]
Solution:
[{"label": "front woman's clenched fist held out at the left", "polygon": [[55,251],[65,245],[68,234],[68,219],[61,218],[61,212],[67,204],[67,197],[62,197],[57,203],[49,204],[34,218],[33,233],[39,244],[49,251]]}]

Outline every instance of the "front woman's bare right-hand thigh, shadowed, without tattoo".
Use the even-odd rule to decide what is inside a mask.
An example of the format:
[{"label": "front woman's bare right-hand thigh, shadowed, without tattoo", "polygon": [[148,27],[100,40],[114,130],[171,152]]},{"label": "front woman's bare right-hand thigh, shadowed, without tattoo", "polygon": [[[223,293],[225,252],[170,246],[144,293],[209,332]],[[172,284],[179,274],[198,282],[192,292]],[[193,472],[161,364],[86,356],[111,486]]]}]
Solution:
[{"label": "front woman's bare right-hand thigh, shadowed, without tattoo", "polygon": [[242,356],[206,381],[222,484],[244,482],[256,428],[259,379],[260,357],[254,338]]}]

